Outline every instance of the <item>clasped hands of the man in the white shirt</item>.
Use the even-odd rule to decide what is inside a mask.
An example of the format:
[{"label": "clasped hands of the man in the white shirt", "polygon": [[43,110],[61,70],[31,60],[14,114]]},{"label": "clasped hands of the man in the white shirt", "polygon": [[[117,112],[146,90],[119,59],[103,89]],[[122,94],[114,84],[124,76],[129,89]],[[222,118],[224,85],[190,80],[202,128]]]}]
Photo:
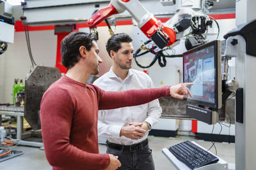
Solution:
[{"label": "clasped hands of the man in the white shirt", "polygon": [[138,140],[141,139],[147,131],[141,129],[140,126],[143,124],[136,123],[134,125],[123,126],[120,131],[120,136],[125,136],[126,138]]}]

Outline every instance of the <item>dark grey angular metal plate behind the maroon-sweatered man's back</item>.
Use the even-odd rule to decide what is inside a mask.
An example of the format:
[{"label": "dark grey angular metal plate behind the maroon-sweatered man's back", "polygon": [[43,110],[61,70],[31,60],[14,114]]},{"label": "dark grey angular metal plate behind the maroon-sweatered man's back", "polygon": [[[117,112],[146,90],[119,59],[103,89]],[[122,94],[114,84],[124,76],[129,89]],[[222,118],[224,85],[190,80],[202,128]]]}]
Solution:
[{"label": "dark grey angular metal plate behind the maroon-sweatered man's back", "polygon": [[49,86],[61,77],[58,68],[36,66],[25,81],[24,117],[32,129],[41,129],[40,102]]}]

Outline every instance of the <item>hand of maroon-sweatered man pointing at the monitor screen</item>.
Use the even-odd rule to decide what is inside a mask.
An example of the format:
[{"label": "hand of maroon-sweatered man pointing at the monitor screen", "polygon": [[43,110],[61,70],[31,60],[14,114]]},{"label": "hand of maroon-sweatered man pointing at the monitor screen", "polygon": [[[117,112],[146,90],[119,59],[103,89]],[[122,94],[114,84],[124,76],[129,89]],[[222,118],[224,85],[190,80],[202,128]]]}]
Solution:
[{"label": "hand of maroon-sweatered man pointing at the monitor screen", "polygon": [[187,97],[186,94],[189,94],[190,97],[193,97],[188,87],[186,87],[187,85],[193,84],[194,83],[180,83],[178,85],[174,85],[170,87],[170,95],[177,99],[185,99]]}]

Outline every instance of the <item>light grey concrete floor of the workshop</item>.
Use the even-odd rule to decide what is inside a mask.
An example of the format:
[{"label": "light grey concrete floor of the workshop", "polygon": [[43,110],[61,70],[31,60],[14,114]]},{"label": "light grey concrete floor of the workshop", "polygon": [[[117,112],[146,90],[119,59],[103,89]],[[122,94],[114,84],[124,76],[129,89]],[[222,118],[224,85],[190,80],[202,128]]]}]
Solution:
[{"label": "light grey concrete floor of the workshop", "polygon": [[[178,136],[177,138],[161,138],[149,136],[148,141],[150,148],[152,148],[152,153],[154,157],[154,162],[156,166],[156,170],[165,170],[165,169],[175,169],[172,163],[164,157],[162,153],[162,149],[174,145],[176,143],[180,143],[182,141],[186,141],[189,139],[191,141],[195,141],[199,145],[204,148],[210,148],[212,143],[209,141],[198,141],[194,138],[188,136]],[[227,161],[230,164],[235,163],[235,145],[234,143],[215,143],[218,156],[221,159]],[[24,152],[23,155],[15,157],[13,159],[5,160],[0,162],[0,169],[4,170],[50,170],[51,166],[45,159],[45,154],[43,150],[39,150],[38,148],[31,148],[25,146],[17,146],[15,150],[20,150]],[[106,146],[99,145],[100,153],[106,153]],[[211,149],[212,153],[215,153],[214,148]]]}]

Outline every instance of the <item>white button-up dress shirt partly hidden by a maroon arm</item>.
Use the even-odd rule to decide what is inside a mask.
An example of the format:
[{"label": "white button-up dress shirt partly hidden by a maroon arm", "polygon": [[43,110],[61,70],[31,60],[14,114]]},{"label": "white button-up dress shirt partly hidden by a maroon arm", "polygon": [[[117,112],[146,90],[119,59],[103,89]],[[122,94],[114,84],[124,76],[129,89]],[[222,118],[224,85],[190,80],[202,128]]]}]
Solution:
[{"label": "white button-up dress shirt partly hidden by a maroon arm", "polygon": [[[154,84],[148,74],[135,69],[129,69],[127,77],[122,80],[113,72],[112,67],[109,72],[100,76],[94,81],[100,89],[107,91],[124,91],[130,89],[147,89],[154,87]],[[123,126],[131,122],[148,122],[154,125],[159,121],[162,108],[158,99],[150,103],[139,106],[118,108],[113,110],[100,110],[98,118],[98,135],[106,136],[111,143],[120,145],[133,145],[147,139],[148,132],[143,138],[132,140],[120,137],[120,131]]]}]

